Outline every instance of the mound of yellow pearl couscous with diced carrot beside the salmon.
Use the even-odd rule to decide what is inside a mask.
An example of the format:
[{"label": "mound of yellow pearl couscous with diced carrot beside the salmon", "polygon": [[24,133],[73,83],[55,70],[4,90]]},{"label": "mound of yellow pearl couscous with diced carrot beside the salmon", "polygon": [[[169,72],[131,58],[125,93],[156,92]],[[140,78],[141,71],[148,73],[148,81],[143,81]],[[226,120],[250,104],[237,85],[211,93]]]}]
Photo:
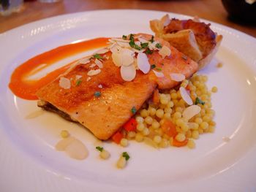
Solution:
[{"label": "mound of yellow pearl couscous with diced carrot beside the salmon", "polygon": [[[216,126],[211,93],[216,93],[217,87],[208,90],[207,80],[206,75],[194,74],[190,80],[183,80],[179,88],[160,91],[157,104],[151,99],[136,112],[135,131],[124,130],[125,139],[120,144],[127,146],[128,141],[134,139],[154,147],[195,148],[195,139],[214,132]],[[180,87],[185,88],[192,104],[182,96]]]}]

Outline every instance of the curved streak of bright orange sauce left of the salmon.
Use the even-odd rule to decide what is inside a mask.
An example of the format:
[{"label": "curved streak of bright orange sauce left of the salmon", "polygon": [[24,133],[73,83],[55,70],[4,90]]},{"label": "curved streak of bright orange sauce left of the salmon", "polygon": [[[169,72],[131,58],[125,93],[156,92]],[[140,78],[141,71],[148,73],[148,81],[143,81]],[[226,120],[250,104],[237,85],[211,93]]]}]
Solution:
[{"label": "curved streak of bright orange sauce left of the salmon", "polygon": [[57,61],[61,61],[61,59],[82,53],[86,50],[104,47],[107,45],[107,42],[108,38],[91,39],[84,42],[57,47],[53,50],[37,55],[15,69],[11,76],[9,88],[15,96],[22,99],[37,100],[38,98],[36,93],[39,88],[42,88],[44,85],[47,85],[49,82],[52,82],[59,77],[60,74],[69,69],[69,66],[73,62],[46,74],[38,80],[28,80],[27,77],[42,71],[42,69],[45,69]]}]

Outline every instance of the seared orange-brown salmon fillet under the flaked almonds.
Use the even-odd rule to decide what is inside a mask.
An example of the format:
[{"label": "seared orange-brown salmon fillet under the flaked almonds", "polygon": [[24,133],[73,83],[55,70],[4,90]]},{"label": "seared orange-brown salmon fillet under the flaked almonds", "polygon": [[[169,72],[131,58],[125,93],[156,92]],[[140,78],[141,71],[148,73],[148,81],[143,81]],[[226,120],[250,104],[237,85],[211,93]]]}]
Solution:
[{"label": "seared orange-brown salmon fillet under the flaked almonds", "polygon": [[[151,39],[148,34],[138,34],[135,39],[137,37]],[[171,80],[170,73],[181,73],[189,77],[197,71],[195,61],[184,59],[183,53],[170,47],[168,42],[157,38],[155,40],[171,50],[171,55],[165,58],[159,55],[158,50],[148,54],[149,64],[161,69],[164,77],[157,77],[152,69],[147,74],[136,70],[135,78],[125,81],[121,77],[120,67],[113,62],[111,51],[108,51],[100,54],[103,67],[99,74],[89,76],[91,70],[99,69],[99,66],[94,66],[96,59],[91,58],[89,63],[76,64],[39,89],[37,96],[43,101],[39,105],[51,104],[72,120],[89,128],[98,139],[109,139],[134,115],[132,108],[139,110],[155,88],[167,89],[178,85],[178,82]],[[70,81],[69,88],[60,86],[61,77]]]}]

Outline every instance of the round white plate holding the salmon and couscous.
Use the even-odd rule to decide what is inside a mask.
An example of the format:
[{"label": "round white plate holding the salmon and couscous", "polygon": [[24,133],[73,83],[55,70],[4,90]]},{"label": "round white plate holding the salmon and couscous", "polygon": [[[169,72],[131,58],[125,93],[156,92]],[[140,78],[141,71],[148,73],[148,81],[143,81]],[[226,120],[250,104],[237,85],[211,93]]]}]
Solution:
[{"label": "round white plate holding the salmon and couscous", "polygon": [[[209,88],[219,88],[212,96],[217,128],[214,134],[202,135],[195,150],[105,144],[111,158],[101,161],[89,131],[50,112],[26,119],[38,110],[36,102],[19,99],[8,88],[15,67],[34,55],[80,39],[152,34],[148,21],[164,14],[80,12],[0,34],[1,191],[256,191],[256,40],[232,28],[212,23],[224,39],[202,73],[208,75]],[[174,17],[189,18],[170,13]],[[224,64],[220,69],[215,66],[219,61]],[[86,144],[89,158],[76,161],[54,150],[64,128]],[[224,142],[222,137],[231,140]],[[115,162],[123,151],[131,158],[124,170],[118,170]]]}]

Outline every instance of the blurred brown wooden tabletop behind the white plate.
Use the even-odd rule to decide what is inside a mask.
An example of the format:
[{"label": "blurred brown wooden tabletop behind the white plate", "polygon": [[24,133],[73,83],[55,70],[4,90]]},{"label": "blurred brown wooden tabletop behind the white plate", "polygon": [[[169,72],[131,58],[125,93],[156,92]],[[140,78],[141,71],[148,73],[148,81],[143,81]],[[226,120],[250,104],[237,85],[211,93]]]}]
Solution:
[{"label": "blurred brown wooden tabletop behind the white plate", "polygon": [[23,11],[10,16],[0,16],[0,33],[43,18],[97,9],[154,9],[191,16],[197,15],[256,37],[255,26],[241,25],[227,19],[227,12],[221,0],[63,0],[52,4],[26,1]]}]

